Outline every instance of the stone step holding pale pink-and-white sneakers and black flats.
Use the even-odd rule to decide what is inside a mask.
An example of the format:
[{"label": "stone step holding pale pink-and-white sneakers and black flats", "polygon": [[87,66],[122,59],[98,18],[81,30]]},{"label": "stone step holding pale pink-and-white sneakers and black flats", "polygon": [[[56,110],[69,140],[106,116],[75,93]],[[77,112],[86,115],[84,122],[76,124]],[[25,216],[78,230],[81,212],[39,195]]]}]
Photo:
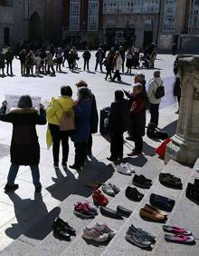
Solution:
[{"label": "stone step holding pale pink-and-white sneakers and black flats", "polygon": [[[152,164],[151,164],[152,163]],[[140,170],[139,174],[146,175],[148,178],[151,180],[156,180],[156,176],[163,170],[165,167],[165,164],[162,160],[158,158],[153,158],[153,162],[148,162],[146,166]],[[118,195],[115,197],[114,200],[109,202],[109,208],[116,210],[118,204],[122,205],[123,207],[128,208],[131,211],[134,211],[134,209],[137,208],[137,205],[139,202],[133,202],[127,199],[125,196],[125,191],[128,185],[132,185],[132,178],[128,182],[128,184],[124,187],[124,189],[118,193]],[[143,192],[144,194],[147,193],[147,190],[142,190],[139,189],[140,192]],[[94,226],[97,222],[99,223],[108,223],[109,227],[115,231],[118,231],[119,228],[124,225],[125,222],[127,222],[128,219],[124,218],[123,220],[115,220],[111,219],[109,217],[99,215],[95,220],[90,222],[90,227]],[[91,241],[85,241],[82,239],[82,230],[81,234],[78,239],[76,239],[74,242],[70,244],[69,247],[64,248],[64,251],[62,251],[62,256],[63,255],[100,255],[105,249],[106,245],[104,244],[102,246],[99,246],[96,242],[91,242]]]}]

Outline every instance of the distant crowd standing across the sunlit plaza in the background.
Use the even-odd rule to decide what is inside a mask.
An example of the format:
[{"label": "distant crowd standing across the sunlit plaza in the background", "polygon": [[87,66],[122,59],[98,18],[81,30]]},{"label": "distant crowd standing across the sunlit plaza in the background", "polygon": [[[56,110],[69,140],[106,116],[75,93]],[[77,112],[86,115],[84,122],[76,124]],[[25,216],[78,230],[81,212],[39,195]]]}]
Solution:
[{"label": "distant crowd standing across the sunlit plaza in the background", "polygon": [[[24,76],[35,76],[40,74],[55,75],[56,72],[62,72],[62,68],[67,62],[68,68],[73,72],[77,66],[80,56],[75,46],[64,45],[62,47],[55,48],[53,44],[47,44],[43,47],[30,47],[29,44],[24,44],[24,48],[15,53],[11,47],[4,46],[0,51],[0,71],[1,76],[14,75],[13,61],[14,57],[20,61],[21,74]],[[121,80],[120,70],[125,72],[124,67],[127,67],[127,73],[131,74],[132,68],[154,68],[156,60],[155,44],[150,44],[146,49],[141,52],[141,49],[136,45],[125,49],[122,45],[117,47],[111,47],[107,53],[107,49],[103,44],[99,45],[99,48],[95,54],[96,65],[95,71],[97,71],[100,65],[100,72],[103,72],[103,68],[106,69],[105,79],[114,81],[118,78]],[[84,61],[82,69],[90,71],[90,58],[91,52],[88,47],[83,50],[82,58]],[[111,75],[111,71],[115,71],[115,74]]]}]

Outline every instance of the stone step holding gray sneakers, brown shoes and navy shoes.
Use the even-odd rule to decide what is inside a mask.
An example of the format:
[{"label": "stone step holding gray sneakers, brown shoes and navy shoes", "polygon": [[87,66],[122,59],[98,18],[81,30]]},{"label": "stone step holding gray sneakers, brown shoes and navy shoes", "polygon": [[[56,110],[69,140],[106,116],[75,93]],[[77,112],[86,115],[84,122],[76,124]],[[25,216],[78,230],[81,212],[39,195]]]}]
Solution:
[{"label": "stone step holding gray sneakers, brown shoes and navy shoes", "polygon": [[[137,209],[131,214],[128,221],[118,230],[118,234],[116,237],[110,241],[109,246],[106,248],[106,250],[101,254],[103,256],[110,256],[110,255],[151,255],[151,251],[144,251],[138,248],[137,246],[132,245],[128,241],[125,240],[125,234],[128,231],[128,227],[131,224],[134,224],[136,227],[142,228],[148,232],[154,233],[156,235],[156,240],[158,241],[159,236],[161,235],[162,231],[162,223],[156,223],[156,222],[146,222],[139,216],[139,210],[141,207],[144,207],[146,203],[149,203],[149,197],[152,192],[161,194],[163,196],[172,198],[175,200],[175,207],[173,209],[173,212],[168,213],[168,220],[172,218],[172,215],[174,212],[176,212],[176,209],[179,205],[179,201],[182,197],[183,192],[185,192],[186,184],[188,181],[188,178],[192,174],[192,169],[186,166],[183,166],[177,162],[170,161],[166,165],[166,168],[163,172],[170,172],[174,174],[177,177],[180,177],[182,179],[184,189],[183,190],[175,190],[170,189],[158,182],[158,177],[156,178],[156,182],[153,183],[153,186],[148,190],[146,196],[143,198],[142,202],[140,202],[137,206]],[[156,245],[155,245],[156,247]],[[162,254],[155,254],[155,255],[161,255]],[[175,255],[175,254],[172,254]]]}]

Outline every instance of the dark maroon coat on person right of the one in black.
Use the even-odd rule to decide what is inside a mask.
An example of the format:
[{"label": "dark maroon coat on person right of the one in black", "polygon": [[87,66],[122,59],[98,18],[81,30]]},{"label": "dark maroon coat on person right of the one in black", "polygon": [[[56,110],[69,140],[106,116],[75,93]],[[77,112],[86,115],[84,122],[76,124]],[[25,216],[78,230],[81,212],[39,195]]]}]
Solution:
[{"label": "dark maroon coat on person right of the one in black", "polygon": [[144,93],[137,94],[136,97],[133,97],[130,116],[131,135],[135,138],[144,136],[146,125],[146,95]]}]

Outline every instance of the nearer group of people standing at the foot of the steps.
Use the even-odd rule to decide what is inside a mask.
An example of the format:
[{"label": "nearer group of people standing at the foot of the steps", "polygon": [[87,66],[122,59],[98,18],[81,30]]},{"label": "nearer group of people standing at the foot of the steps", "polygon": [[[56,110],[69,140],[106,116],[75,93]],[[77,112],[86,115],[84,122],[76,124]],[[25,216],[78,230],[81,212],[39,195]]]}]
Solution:
[{"label": "nearer group of people standing at the foot of the steps", "polygon": [[[115,58],[115,56],[114,56]],[[178,81],[178,77],[176,77]],[[175,82],[176,82],[175,81]],[[140,155],[143,152],[143,136],[146,130],[146,112],[150,112],[150,123],[158,127],[159,104],[164,97],[164,82],[160,77],[160,71],[154,72],[154,77],[148,83],[144,74],[135,75],[135,84],[132,92],[117,90],[115,101],[111,103],[109,115],[105,120],[110,136],[110,156],[108,160],[116,162],[123,158],[123,135],[128,132],[128,140],[135,143],[135,148],[128,156]],[[35,192],[41,192],[39,162],[40,146],[35,129],[36,124],[48,123],[46,142],[52,146],[53,167],[59,168],[60,146],[62,143],[62,167],[68,167],[69,138],[74,143],[75,157],[71,169],[81,170],[87,156],[92,154],[92,134],[98,132],[99,115],[95,95],[91,93],[88,84],[80,81],[76,84],[78,99],[72,99],[70,86],[62,86],[61,95],[52,97],[48,108],[44,110],[40,105],[40,112],[33,109],[32,99],[29,95],[21,96],[18,107],[6,113],[6,102],[0,109],[0,120],[13,123],[13,137],[11,142],[11,167],[5,185],[5,191],[13,191],[18,188],[14,183],[20,165],[30,165]],[[127,99],[125,99],[125,96]],[[62,117],[70,113],[74,121],[74,129],[62,130]]]}]

